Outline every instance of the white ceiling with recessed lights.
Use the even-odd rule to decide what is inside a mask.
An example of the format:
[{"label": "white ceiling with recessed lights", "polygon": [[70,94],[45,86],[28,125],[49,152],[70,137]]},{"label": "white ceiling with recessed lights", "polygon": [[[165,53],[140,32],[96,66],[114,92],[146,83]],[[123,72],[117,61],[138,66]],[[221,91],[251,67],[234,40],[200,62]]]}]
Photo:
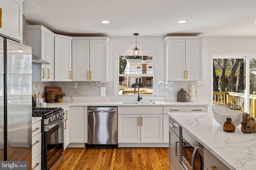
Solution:
[{"label": "white ceiling with recessed lights", "polygon": [[256,36],[256,0],[24,0],[23,13],[70,36]]}]

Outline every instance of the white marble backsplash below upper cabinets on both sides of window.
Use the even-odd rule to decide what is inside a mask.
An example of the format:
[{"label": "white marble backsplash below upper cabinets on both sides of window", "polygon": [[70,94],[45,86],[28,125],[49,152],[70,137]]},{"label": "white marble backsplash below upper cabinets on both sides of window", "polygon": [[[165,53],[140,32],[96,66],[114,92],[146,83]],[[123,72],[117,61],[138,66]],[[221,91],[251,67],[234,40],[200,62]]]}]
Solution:
[{"label": "white marble backsplash below upper cabinets on both sides of window", "polygon": [[[157,84],[156,95],[151,98],[157,97],[176,97],[177,92],[184,88],[186,92],[189,92],[189,84],[194,84],[195,100],[197,99],[197,81],[161,81],[162,86]],[[36,88],[33,88],[32,94],[38,94],[40,97],[45,98],[44,90],[45,86],[60,87],[62,93],[65,93],[65,97],[101,97],[101,87],[106,88],[106,97],[114,96],[114,82],[77,82],[77,88],[74,88],[74,82],[32,82],[33,87],[36,83]]]}]

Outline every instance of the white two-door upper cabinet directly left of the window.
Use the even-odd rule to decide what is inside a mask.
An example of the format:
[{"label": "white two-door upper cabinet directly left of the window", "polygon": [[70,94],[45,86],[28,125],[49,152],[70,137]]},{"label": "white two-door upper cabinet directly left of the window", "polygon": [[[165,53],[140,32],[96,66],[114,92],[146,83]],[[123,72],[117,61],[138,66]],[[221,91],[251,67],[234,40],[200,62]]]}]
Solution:
[{"label": "white two-door upper cabinet directly left of the window", "polygon": [[108,80],[108,37],[73,37],[72,80]]}]

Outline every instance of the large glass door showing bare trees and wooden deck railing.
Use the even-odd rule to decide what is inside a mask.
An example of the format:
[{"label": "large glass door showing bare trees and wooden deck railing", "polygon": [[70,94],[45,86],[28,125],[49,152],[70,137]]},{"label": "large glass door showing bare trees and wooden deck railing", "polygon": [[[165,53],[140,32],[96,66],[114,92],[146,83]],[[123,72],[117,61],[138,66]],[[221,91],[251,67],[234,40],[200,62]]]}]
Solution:
[{"label": "large glass door showing bare trees and wooden deck railing", "polygon": [[256,59],[213,59],[213,104],[256,116]]}]

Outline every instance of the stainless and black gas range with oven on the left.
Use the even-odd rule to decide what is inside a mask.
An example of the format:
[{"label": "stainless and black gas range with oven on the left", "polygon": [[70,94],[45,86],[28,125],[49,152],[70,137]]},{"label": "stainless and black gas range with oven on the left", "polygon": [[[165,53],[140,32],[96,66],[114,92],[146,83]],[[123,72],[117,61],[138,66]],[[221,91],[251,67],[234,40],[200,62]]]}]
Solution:
[{"label": "stainless and black gas range with oven on the left", "polygon": [[55,170],[63,161],[64,109],[33,107],[32,117],[42,117],[42,170]]}]

